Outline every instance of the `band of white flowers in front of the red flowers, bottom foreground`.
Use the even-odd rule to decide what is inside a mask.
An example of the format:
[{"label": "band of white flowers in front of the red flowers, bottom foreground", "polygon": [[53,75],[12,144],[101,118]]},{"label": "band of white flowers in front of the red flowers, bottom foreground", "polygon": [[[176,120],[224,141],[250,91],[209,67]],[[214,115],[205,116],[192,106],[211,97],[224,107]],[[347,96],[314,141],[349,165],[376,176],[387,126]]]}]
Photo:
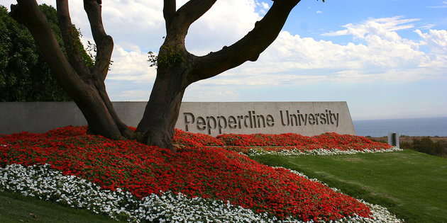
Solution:
[{"label": "band of white flowers in front of the red flowers, bottom foreground", "polygon": [[[302,173],[297,174],[303,176]],[[116,191],[101,190],[99,186],[82,178],[63,176],[48,164],[27,168],[12,164],[0,168],[0,190],[81,207],[95,213],[104,213],[113,219],[127,219],[129,222],[302,222],[295,219],[280,221],[229,202],[191,199],[181,193],[152,194],[138,200],[120,188]],[[364,203],[371,208],[373,219],[351,217],[336,222],[399,222],[386,208]]]}]

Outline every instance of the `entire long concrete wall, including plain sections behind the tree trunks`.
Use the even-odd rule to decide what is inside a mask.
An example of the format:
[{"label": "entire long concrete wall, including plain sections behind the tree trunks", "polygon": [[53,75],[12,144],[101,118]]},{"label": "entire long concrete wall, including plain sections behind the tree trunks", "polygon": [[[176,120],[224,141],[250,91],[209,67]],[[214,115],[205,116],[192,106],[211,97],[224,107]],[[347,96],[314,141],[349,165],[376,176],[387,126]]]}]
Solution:
[{"label": "entire long concrete wall, including plain sections behind the tree trunks", "polygon": [[[146,102],[114,102],[118,116],[136,127]],[[42,133],[66,125],[87,125],[72,102],[0,103],[0,134]],[[355,135],[346,102],[184,102],[176,127],[208,135],[324,132]]]}]

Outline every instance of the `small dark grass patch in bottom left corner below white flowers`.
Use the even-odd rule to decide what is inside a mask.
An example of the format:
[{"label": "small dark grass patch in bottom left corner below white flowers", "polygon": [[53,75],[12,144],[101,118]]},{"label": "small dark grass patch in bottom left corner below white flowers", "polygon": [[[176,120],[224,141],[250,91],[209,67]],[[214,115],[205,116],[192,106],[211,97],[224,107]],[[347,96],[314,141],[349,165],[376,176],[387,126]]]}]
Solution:
[{"label": "small dark grass patch in bottom left corner below white flowers", "polygon": [[0,191],[0,222],[116,222],[88,210]]}]

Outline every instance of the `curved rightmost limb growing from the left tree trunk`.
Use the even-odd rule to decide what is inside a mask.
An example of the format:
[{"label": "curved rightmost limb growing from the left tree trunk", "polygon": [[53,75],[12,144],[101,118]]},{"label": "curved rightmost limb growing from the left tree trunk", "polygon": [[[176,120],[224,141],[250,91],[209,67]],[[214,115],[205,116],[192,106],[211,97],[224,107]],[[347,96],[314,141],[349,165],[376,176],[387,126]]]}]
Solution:
[{"label": "curved rightmost limb growing from the left tree trunk", "polygon": [[114,50],[114,40],[104,30],[101,16],[101,0],[84,0],[84,10],[89,18],[93,39],[96,42],[94,76],[104,81],[109,72],[111,54]]}]

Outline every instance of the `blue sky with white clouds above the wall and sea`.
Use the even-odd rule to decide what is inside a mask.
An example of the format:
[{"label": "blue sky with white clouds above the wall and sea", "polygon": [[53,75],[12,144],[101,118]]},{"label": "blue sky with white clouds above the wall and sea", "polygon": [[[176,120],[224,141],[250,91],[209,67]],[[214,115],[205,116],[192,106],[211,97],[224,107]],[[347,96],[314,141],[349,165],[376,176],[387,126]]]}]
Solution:
[{"label": "blue sky with white clouds above the wall and sea", "polygon": [[[165,36],[162,1],[102,2],[115,43],[107,92],[112,101],[148,101],[156,75],[148,52]],[[82,41],[92,41],[82,1],[69,4]],[[190,27],[187,50],[199,56],[232,45],[270,6],[217,1]],[[447,1],[302,0],[258,61],[190,85],[183,101],[346,101],[353,120],[446,117]]]}]

